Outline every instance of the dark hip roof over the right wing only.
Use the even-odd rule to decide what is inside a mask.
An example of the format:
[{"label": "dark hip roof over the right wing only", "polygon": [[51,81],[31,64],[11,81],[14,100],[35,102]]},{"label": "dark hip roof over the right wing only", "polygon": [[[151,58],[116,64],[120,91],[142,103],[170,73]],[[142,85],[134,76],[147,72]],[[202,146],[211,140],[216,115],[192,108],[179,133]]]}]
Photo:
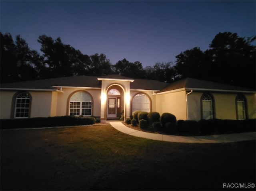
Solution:
[{"label": "dark hip roof over the right wing only", "polygon": [[158,93],[173,91],[177,89],[195,90],[195,91],[222,91],[222,92],[248,92],[253,93],[255,90],[237,87],[211,81],[198,80],[194,78],[186,78],[170,84]]}]

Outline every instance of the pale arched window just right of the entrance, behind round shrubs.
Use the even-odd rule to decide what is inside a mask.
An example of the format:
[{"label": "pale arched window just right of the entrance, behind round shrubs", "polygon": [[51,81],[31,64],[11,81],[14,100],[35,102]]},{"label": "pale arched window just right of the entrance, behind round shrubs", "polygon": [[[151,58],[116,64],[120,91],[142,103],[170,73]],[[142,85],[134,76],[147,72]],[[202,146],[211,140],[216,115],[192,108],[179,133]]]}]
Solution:
[{"label": "pale arched window just right of the entrance, behind round shrubs", "polygon": [[150,99],[145,94],[137,94],[132,100],[132,111],[150,112]]}]

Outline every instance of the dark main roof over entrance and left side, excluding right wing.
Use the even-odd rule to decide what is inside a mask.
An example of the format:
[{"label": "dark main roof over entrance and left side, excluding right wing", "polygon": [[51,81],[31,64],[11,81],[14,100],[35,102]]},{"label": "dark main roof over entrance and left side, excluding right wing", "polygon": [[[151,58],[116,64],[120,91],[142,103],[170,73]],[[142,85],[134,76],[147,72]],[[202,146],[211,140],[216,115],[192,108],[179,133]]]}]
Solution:
[{"label": "dark main roof over entrance and left side, excluding right wing", "polygon": [[[164,83],[156,80],[131,79],[120,75],[108,75],[102,77],[96,76],[72,76],[60,77],[52,79],[42,79],[34,81],[23,81],[15,83],[5,83],[0,85],[0,89],[34,89],[34,90],[56,90],[56,87],[88,87],[101,88],[99,79],[120,79],[131,81],[130,89],[145,89],[145,90],[161,90],[169,83]],[[134,82],[132,82],[134,81]]]}]

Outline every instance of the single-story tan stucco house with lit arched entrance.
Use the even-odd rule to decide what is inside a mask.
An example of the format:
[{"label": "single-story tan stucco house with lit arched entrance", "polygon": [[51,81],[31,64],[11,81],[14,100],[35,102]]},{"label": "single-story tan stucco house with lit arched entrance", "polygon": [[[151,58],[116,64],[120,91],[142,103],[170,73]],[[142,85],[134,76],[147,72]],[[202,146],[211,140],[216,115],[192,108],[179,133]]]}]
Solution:
[{"label": "single-story tan stucco house with lit arched entrance", "polygon": [[0,118],[129,118],[135,110],[183,120],[256,118],[256,91],[186,78],[175,83],[120,75],[74,76],[0,86]]}]

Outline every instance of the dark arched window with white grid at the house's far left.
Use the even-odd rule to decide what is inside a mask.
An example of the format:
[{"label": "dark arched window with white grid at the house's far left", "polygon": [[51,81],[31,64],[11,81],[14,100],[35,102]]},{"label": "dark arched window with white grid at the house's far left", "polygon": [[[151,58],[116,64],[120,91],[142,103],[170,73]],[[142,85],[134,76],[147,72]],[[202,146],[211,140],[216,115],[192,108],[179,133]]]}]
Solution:
[{"label": "dark arched window with white grid at the house's far left", "polygon": [[30,99],[28,93],[19,93],[16,96],[14,118],[28,118]]}]

